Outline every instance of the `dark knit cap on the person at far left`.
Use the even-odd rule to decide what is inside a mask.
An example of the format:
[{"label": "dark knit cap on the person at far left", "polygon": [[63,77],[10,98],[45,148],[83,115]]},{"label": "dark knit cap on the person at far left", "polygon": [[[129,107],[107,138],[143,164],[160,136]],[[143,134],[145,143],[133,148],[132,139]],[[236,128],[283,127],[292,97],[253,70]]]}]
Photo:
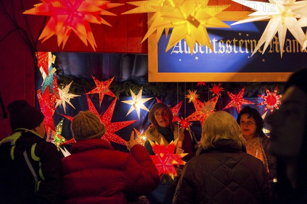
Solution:
[{"label": "dark knit cap on the person at far left", "polygon": [[8,105],[11,129],[25,128],[32,130],[40,125],[45,117],[41,111],[28,104],[26,100],[14,100]]}]

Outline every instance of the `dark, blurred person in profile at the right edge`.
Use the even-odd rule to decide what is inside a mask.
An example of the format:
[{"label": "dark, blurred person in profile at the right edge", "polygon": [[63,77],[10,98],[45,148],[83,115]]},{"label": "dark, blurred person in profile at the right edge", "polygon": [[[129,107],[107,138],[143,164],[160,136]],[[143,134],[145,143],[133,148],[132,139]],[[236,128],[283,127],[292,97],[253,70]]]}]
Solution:
[{"label": "dark, blurred person in profile at the right edge", "polygon": [[271,125],[270,152],[277,158],[274,203],[307,203],[307,68],[291,75]]}]

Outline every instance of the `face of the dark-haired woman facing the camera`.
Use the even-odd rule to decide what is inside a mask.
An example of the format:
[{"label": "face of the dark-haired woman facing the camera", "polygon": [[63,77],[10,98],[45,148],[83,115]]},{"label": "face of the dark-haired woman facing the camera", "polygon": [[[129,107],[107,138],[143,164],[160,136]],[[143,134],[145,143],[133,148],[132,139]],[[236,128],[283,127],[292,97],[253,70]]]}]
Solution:
[{"label": "face of the dark-haired woman facing the camera", "polygon": [[240,117],[240,128],[241,128],[243,137],[246,140],[252,139],[256,133],[255,119],[252,117],[249,117],[249,114],[243,114]]}]

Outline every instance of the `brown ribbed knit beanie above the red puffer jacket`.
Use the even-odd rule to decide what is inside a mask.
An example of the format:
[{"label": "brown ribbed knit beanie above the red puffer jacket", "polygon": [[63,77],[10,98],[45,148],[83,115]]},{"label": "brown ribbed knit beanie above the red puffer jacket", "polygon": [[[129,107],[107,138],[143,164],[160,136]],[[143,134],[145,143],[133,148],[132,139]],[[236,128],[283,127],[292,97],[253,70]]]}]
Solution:
[{"label": "brown ribbed knit beanie above the red puffer jacket", "polygon": [[73,138],[80,140],[101,138],[105,132],[105,126],[100,118],[91,111],[80,111],[71,123]]}]

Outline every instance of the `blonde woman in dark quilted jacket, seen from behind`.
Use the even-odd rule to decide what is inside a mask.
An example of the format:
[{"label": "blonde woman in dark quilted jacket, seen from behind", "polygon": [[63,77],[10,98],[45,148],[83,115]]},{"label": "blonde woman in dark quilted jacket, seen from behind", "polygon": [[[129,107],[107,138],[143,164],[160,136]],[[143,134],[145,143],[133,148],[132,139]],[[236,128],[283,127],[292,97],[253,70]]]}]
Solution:
[{"label": "blonde woman in dark quilted jacket, seen from behind", "polygon": [[211,114],[203,124],[196,157],[188,161],[173,203],[269,203],[264,164],[246,154],[245,139],[232,115]]}]

